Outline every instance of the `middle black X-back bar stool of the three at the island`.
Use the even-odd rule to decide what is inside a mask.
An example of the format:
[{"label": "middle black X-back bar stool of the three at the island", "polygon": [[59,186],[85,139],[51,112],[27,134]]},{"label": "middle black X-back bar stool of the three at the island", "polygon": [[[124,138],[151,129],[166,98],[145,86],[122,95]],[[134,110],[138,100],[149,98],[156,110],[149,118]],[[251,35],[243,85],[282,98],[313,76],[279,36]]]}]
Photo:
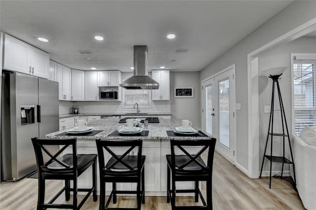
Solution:
[{"label": "middle black X-back bar stool of the three at the island", "polygon": [[[141,203],[145,204],[145,182],[144,182],[144,163],[145,155],[142,155],[142,140],[96,140],[99,167],[100,167],[100,210],[116,210],[116,208],[108,208],[111,199],[113,203],[117,202],[117,194],[136,194],[137,208],[128,208],[129,210],[140,210]],[[127,147],[122,155],[117,155],[111,147]],[[137,147],[137,155],[130,155],[132,150]],[[110,159],[105,164],[104,150],[110,153]],[[113,188],[107,203],[105,204],[105,184],[112,182]],[[117,182],[136,182],[136,191],[117,190]],[[122,209],[122,208],[117,208]],[[127,209],[127,208],[124,208]]]}]

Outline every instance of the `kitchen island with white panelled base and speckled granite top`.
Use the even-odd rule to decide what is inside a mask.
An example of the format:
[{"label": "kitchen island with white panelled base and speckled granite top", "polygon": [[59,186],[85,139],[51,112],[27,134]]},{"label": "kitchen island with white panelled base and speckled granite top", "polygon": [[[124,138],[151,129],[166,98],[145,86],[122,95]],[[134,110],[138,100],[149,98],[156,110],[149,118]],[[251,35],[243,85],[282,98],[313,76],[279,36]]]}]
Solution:
[{"label": "kitchen island with white panelled base and speckled granite top", "polygon": [[[211,137],[168,137],[166,131],[173,131],[175,127],[181,126],[181,120],[176,119],[161,119],[159,123],[149,123],[148,126],[142,126],[144,131],[149,131],[148,136],[111,136],[114,131],[126,126],[124,123],[118,123],[119,119],[100,119],[89,122],[87,126],[93,127],[93,130],[100,130],[101,133],[95,136],[57,136],[65,131],[58,131],[47,134],[46,138],[74,138],[77,137],[77,151],[78,154],[97,154],[95,139],[112,139],[112,140],[143,140],[143,155],[146,155],[145,161],[145,191],[146,196],[166,196],[167,189],[167,162],[166,154],[170,154],[170,139],[211,139]],[[199,128],[193,127],[196,130]],[[199,151],[200,147],[191,147],[188,150],[194,154]],[[123,154],[126,150],[124,148],[114,148],[115,152]],[[66,151],[67,152],[67,151]],[[68,151],[70,152],[70,150]],[[135,151],[136,153],[136,151]],[[110,155],[105,155],[105,161],[109,159]],[[99,171],[99,169],[98,169]],[[92,184],[91,170],[87,170],[82,174],[78,181],[79,186],[89,187]],[[99,173],[99,172],[98,172]],[[99,177],[98,177],[99,178]],[[99,183],[99,182],[98,182]],[[120,190],[135,190],[136,184],[118,183],[117,188]],[[193,182],[177,183],[177,189],[193,189]],[[106,190],[110,193],[112,184],[107,183]],[[99,192],[99,191],[98,191]]]}]

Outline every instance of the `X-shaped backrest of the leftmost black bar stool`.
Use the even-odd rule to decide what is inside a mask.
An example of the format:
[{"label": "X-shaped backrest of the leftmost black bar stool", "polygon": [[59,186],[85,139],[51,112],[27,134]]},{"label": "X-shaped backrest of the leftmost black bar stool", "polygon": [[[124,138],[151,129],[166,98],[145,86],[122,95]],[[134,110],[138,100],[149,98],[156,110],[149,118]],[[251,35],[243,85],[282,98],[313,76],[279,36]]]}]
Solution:
[{"label": "X-shaped backrest of the leftmost black bar stool", "polygon": [[[77,176],[77,139],[38,139],[32,138],[33,147],[35,150],[37,167],[39,173],[47,174],[72,174]],[[57,152],[53,152],[48,145],[63,146]],[[72,164],[67,164],[59,157],[68,147],[72,147]],[[48,161],[44,158],[44,154],[48,155]]]}]

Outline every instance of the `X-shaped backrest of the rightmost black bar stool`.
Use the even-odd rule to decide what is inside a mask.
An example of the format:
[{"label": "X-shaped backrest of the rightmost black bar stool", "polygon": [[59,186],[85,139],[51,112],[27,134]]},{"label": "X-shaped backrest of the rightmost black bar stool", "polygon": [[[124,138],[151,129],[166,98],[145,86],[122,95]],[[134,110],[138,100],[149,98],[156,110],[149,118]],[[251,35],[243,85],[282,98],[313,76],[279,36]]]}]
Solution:
[{"label": "X-shaped backrest of the rightmost black bar stool", "polygon": [[[170,140],[171,146],[171,167],[172,171],[177,174],[186,174],[186,173],[196,173],[200,175],[201,173],[211,173],[213,169],[213,158],[214,158],[214,150],[215,150],[216,139],[212,138],[209,140]],[[183,146],[202,146],[202,148],[196,154],[190,154],[186,148]],[[175,147],[178,147],[184,155],[188,157],[188,161],[183,163],[181,166],[176,167],[175,163]],[[197,158],[208,148],[207,152],[207,163],[204,166],[202,163],[198,161]],[[199,166],[198,170],[187,170],[186,167],[191,163],[195,163]]]}]

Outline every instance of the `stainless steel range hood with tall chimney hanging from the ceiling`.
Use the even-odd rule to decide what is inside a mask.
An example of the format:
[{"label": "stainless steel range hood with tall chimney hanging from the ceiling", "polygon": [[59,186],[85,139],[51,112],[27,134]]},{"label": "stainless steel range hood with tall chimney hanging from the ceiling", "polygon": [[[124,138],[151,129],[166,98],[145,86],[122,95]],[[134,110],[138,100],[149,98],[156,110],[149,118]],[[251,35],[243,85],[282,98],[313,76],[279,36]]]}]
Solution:
[{"label": "stainless steel range hood with tall chimney hanging from the ceiling", "polygon": [[154,90],[159,88],[159,83],[148,76],[147,54],[146,45],[134,45],[134,75],[119,86],[126,89]]}]

